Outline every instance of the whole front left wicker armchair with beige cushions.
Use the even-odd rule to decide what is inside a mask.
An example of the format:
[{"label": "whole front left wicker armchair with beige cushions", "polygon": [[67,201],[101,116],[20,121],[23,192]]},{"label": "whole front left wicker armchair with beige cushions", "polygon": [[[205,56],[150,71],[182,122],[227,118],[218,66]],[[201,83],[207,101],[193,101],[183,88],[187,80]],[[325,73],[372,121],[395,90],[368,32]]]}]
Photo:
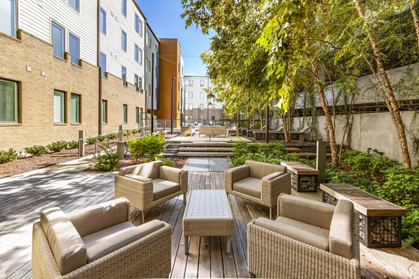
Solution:
[{"label": "whole front left wicker armchair with beige cushions", "polygon": [[135,227],[129,211],[126,199],[43,211],[32,234],[34,278],[168,277],[172,228],[159,220]]}]

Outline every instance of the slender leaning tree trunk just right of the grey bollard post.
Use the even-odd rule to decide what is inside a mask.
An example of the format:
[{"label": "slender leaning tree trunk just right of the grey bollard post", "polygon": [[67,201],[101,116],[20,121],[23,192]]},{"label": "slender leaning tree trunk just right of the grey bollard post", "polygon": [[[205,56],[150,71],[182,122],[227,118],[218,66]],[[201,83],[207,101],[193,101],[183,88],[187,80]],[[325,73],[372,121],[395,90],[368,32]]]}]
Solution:
[{"label": "slender leaning tree trunk just right of the grey bollard post", "polygon": [[329,142],[330,142],[330,151],[332,152],[332,166],[337,167],[339,165],[339,160],[337,158],[337,145],[335,138],[335,126],[333,126],[332,116],[328,110],[328,104],[326,103],[325,91],[323,85],[321,84],[318,78],[318,68],[314,61],[311,61],[311,69],[313,70],[314,79],[316,80],[316,86],[318,89],[318,96],[320,97],[321,107],[325,113],[326,124],[328,126],[329,133]]}]

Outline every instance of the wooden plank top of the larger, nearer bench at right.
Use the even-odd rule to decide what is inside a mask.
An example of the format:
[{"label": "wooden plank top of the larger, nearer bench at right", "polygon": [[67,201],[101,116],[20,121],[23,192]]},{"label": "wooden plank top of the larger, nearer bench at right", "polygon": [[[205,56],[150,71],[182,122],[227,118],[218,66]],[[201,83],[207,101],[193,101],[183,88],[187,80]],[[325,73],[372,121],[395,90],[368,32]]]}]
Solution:
[{"label": "wooden plank top of the larger, nearer bench at right", "polygon": [[321,190],[336,197],[353,202],[357,211],[365,216],[404,216],[406,209],[380,199],[349,184],[320,184]]}]

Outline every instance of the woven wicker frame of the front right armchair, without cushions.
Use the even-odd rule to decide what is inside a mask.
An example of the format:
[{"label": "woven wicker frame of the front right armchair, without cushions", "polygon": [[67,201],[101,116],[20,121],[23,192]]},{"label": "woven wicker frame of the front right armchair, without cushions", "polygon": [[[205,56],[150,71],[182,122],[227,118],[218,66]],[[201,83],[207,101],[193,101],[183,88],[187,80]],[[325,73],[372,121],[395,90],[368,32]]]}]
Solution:
[{"label": "woven wicker frame of the front right armchair, without cushions", "polygon": [[358,216],[354,218],[353,257],[346,259],[269,229],[247,225],[249,271],[261,278],[360,278]]}]

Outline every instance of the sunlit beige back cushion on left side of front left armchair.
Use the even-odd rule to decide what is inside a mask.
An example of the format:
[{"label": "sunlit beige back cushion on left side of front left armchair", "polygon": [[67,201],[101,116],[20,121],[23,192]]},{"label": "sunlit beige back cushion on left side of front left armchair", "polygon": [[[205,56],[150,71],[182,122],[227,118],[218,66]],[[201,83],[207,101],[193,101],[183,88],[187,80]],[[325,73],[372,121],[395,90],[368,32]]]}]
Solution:
[{"label": "sunlit beige back cushion on left side of front left armchair", "polygon": [[87,264],[82,238],[61,209],[42,211],[41,226],[62,275]]}]

